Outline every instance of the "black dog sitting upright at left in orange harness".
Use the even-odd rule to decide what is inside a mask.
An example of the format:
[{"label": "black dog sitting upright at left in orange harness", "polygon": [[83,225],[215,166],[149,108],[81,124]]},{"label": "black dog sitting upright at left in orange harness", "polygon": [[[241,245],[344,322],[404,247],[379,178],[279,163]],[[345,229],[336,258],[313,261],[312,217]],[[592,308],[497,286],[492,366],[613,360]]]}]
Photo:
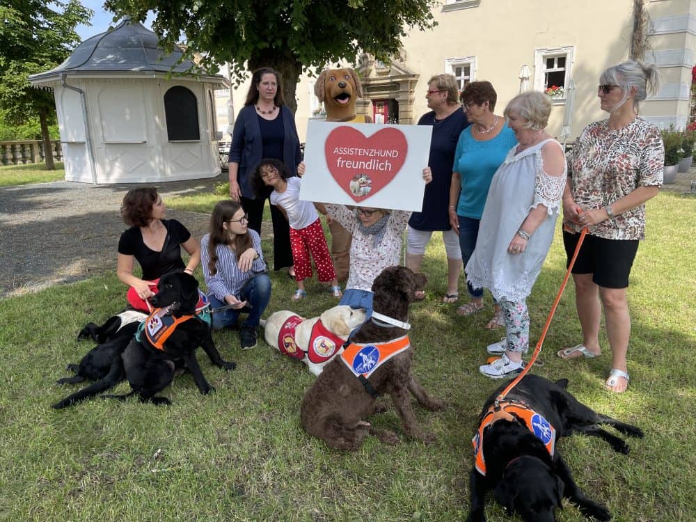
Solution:
[{"label": "black dog sitting upright at left in orange harness", "polygon": [[171,272],[159,279],[157,294],[150,299],[157,310],[145,320],[142,331],[122,356],[125,377],[132,392],[110,398],[125,400],[130,395],[138,395],[141,402],[171,404],[166,397],[156,394],[181,370],[191,373],[200,393],[214,391],[198,366],[196,348],[199,346],[214,365],[226,370],[235,368],[235,363],[223,361],[217,351],[205,313],[196,313],[198,298],[198,281],[189,274]]}]

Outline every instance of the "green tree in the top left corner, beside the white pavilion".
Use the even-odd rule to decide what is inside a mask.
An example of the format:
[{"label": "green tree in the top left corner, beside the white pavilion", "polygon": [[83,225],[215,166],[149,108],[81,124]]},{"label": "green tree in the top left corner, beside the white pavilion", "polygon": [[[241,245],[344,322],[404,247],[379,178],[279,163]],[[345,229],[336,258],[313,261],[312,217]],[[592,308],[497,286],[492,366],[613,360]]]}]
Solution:
[{"label": "green tree in the top left corner, beside the white pavilion", "polygon": [[29,75],[68,58],[80,42],[75,27],[87,24],[92,14],[78,0],[0,0],[0,109],[6,122],[38,117],[42,136],[49,139],[47,122],[56,119],[54,97],[32,87]]}]

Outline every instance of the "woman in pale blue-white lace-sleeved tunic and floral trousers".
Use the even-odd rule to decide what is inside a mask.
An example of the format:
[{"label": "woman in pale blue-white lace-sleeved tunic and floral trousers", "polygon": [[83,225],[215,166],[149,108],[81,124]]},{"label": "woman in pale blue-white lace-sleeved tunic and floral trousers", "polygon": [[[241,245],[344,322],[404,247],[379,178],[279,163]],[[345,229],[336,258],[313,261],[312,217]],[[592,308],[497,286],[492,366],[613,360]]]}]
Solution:
[{"label": "woman in pale blue-white lace-sleeved tunic and floral trousers", "polygon": [[551,102],[536,91],[507,104],[507,125],[519,144],[493,175],[476,248],[466,264],[471,285],[488,288],[505,313],[505,338],[488,347],[501,356],[480,367],[493,379],[524,367],[522,354],[529,349],[525,300],[546,259],[560,209],[566,164],[562,146],[544,130],[549,114]]}]

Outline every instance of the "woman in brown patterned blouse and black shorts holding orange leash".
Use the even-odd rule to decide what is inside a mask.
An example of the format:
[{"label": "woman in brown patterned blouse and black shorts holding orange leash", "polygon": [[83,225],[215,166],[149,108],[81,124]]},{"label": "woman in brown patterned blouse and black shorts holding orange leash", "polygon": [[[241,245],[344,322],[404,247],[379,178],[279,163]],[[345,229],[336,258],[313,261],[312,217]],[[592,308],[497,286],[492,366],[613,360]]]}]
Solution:
[{"label": "woman in brown patterned blouse and black shorts holding orange leash", "polygon": [[578,233],[589,227],[573,267],[576,308],[583,342],[562,349],[563,359],[599,356],[602,307],[612,351],[605,383],[614,392],[628,388],[626,354],[631,335],[628,275],[644,239],[645,202],[663,182],[665,147],[655,125],[638,116],[639,103],[658,89],[655,65],[628,61],[601,74],[597,95],[607,120],[590,123],[568,156],[563,194],[563,241],[570,260]]}]

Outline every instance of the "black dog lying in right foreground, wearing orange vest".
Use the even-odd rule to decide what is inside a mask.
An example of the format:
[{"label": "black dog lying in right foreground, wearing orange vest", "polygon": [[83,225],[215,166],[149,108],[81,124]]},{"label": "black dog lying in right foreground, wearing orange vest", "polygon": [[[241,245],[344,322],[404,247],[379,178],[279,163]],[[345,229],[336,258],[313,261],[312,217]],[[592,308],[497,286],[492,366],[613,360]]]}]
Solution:
[{"label": "black dog lying in right foreground, wearing orange vest", "polygon": [[567,379],[552,383],[538,375],[525,375],[505,399],[495,400],[501,386],[489,397],[474,437],[475,466],[471,470],[471,505],[467,521],[483,522],[484,498],[493,490],[496,501],[527,522],[553,522],[555,509],[568,498],[588,519],[608,521],[608,509],[587,498],[573,480],[555,443],[571,433],[598,436],[613,450],[628,454],[622,438],[599,425],[642,437],[640,428],[596,413],[565,389]]}]

